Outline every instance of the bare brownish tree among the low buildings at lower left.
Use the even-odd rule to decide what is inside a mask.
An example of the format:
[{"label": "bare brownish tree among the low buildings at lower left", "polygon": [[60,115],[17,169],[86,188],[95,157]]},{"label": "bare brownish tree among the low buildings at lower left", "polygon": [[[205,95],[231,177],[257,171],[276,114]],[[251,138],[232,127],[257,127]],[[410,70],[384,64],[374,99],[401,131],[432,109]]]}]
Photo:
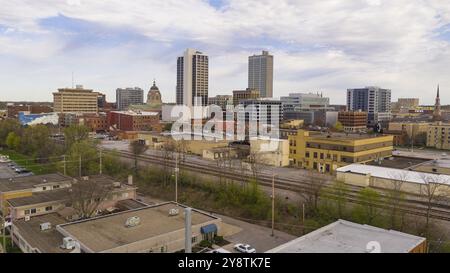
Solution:
[{"label": "bare brownish tree among the low buildings at lower left", "polygon": [[113,190],[113,185],[96,180],[80,180],[72,183],[68,189],[73,209],[81,219],[95,216],[96,211]]}]

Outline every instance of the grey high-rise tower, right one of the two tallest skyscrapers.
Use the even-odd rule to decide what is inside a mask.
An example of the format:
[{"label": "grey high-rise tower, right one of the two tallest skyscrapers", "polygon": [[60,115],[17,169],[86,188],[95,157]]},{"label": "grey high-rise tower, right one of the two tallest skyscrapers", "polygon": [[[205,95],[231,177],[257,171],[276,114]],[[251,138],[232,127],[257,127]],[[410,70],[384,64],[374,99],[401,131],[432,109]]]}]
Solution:
[{"label": "grey high-rise tower, right one of the two tallest skyscrapers", "polygon": [[261,98],[273,97],[273,56],[268,51],[248,57],[248,88],[259,90]]}]

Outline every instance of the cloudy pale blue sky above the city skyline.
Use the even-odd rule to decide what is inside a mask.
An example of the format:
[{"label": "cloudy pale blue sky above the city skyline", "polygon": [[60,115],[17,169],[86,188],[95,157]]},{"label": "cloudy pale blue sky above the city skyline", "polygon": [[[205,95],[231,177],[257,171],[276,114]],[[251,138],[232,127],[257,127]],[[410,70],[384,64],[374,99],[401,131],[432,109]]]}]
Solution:
[{"label": "cloudy pale blue sky above the city skyline", "polygon": [[75,84],[115,101],[153,79],[175,101],[176,58],[209,55],[210,96],[247,87],[248,56],[274,55],[274,96],[380,86],[450,104],[448,0],[0,0],[0,101],[52,101]]}]

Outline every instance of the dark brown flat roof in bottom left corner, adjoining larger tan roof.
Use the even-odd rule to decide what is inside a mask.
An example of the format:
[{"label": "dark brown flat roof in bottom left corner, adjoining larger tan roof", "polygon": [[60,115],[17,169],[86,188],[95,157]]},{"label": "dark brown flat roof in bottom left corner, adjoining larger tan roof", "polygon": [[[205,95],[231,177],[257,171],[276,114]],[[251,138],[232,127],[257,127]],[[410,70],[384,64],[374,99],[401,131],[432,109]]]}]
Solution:
[{"label": "dark brown flat roof in bottom left corner, adjoining larger tan roof", "polygon": [[[50,230],[41,231],[40,224],[51,223]],[[67,221],[56,213],[33,216],[29,221],[24,219],[14,221],[13,225],[19,229],[20,235],[31,246],[38,247],[42,253],[64,253],[62,245],[64,236],[56,230],[56,226],[65,224]]]}]

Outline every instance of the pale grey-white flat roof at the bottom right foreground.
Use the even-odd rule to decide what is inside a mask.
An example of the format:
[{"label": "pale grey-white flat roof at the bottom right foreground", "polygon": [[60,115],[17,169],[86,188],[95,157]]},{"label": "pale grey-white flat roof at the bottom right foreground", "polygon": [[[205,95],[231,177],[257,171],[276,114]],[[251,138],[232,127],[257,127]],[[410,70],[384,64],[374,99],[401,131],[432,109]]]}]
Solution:
[{"label": "pale grey-white flat roof at the bottom right foreground", "polygon": [[367,253],[369,242],[378,242],[382,253],[408,253],[425,238],[338,220],[268,253]]}]

